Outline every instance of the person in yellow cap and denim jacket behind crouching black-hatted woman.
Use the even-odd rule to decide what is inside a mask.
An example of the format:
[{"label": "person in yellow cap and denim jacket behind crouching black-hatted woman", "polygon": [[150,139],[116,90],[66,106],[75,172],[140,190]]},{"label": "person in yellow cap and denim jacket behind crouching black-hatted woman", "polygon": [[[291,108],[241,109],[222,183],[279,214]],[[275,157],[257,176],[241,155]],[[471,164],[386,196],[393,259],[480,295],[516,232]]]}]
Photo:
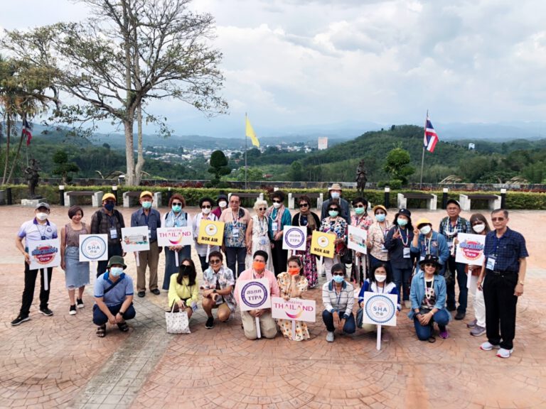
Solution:
[{"label": "person in yellow cap and denim jacket behind crouching black-hatted woman", "polygon": [[419,253],[419,261],[423,261],[427,254],[437,257],[440,265],[439,274],[440,276],[444,276],[447,258],[449,257],[449,247],[447,246],[446,238],[437,231],[432,230],[432,223],[424,217],[417,220],[413,234],[410,251],[412,253]]}]

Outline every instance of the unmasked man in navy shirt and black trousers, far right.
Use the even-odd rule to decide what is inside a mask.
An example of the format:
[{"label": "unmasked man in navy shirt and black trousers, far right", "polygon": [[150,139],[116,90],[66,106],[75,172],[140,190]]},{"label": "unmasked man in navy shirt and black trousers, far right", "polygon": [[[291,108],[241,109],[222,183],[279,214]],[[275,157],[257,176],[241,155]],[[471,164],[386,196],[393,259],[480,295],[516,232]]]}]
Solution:
[{"label": "unmasked man in navy shirt and black trousers, far right", "polygon": [[510,358],[515,337],[515,305],[523,295],[525,258],[529,253],[523,236],[508,228],[508,211],[493,210],[491,221],[494,230],[486,236],[483,266],[478,277],[478,290],[483,289],[486,302],[487,334],[487,341],[480,348],[498,349],[497,356]]}]

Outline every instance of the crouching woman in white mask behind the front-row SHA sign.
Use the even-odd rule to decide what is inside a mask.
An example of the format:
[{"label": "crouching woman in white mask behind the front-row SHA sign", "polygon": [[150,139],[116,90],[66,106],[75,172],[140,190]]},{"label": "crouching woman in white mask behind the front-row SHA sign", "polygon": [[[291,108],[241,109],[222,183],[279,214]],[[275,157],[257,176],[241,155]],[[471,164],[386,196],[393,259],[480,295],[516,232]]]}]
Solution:
[{"label": "crouching woman in white mask behind the front-row SHA sign", "polygon": [[[363,324],[364,293],[366,291],[369,293],[396,295],[398,299],[396,315],[398,315],[398,312],[401,310],[400,293],[398,293],[396,284],[392,282],[392,273],[388,263],[379,263],[377,266],[375,266],[375,269],[370,273],[370,278],[367,278],[364,281],[362,288],[360,288],[360,293],[358,294],[358,305],[360,308],[356,313],[356,325],[358,328],[362,328],[366,332],[370,332],[375,331],[378,326],[373,324]],[[388,339],[385,332],[382,332],[382,339],[383,341]]]}]

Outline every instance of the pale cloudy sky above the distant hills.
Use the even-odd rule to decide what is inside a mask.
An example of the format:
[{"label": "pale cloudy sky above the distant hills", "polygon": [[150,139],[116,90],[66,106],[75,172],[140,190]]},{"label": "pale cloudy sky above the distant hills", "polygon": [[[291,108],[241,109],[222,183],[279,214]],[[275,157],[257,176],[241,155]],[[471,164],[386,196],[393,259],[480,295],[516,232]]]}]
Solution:
[{"label": "pale cloudy sky above the distant hills", "polygon": [[[66,0],[4,1],[2,28],[82,20]],[[195,0],[216,19],[230,114],[154,107],[178,133],[317,124],[542,121],[542,0]],[[259,133],[259,132],[258,132]]]}]

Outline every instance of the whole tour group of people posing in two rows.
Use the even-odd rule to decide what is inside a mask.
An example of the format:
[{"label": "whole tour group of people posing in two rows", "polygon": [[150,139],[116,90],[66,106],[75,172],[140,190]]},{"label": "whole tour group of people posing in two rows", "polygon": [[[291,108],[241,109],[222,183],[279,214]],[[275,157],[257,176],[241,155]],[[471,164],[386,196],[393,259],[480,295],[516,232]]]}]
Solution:
[{"label": "whole tour group of people posing in two rows", "polygon": [[[451,311],[455,320],[466,317],[469,293],[474,298],[475,319],[467,324],[473,336],[487,334],[488,341],[482,349],[499,349],[498,356],[508,357],[513,349],[515,335],[515,305],[523,294],[525,281],[525,258],[528,256],[523,236],[508,228],[508,212],[497,209],[491,214],[493,229],[481,213],[472,214],[469,220],[460,216],[461,207],[456,200],[449,200],[447,215],[441,220],[438,231],[432,222],[420,218],[412,223],[408,209],[399,209],[390,222],[388,210],[382,205],[373,207],[368,214],[368,200],[357,197],[349,203],[341,197],[338,184],[329,188],[328,200],[323,202],[321,217],[311,212],[311,200],[306,195],[297,199],[299,211],[291,216],[284,207],[284,193],[272,193],[272,206],[264,200],[254,205],[255,215],[250,217],[241,207],[237,194],[220,195],[216,200],[203,198],[199,201],[200,212],[191,216],[184,207],[181,195],[172,195],[168,212],[163,217],[152,208],[151,192],[142,192],[141,207],[132,214],[131,226],[146,226],[149,230],[149,251],[140,251],[137,266],[137,295],[146,295],[146,270],[149,269],[148,289],[159,295],[157,268],[162,248],[157,245],[159,227],[191,227],[193,236],[198,236],[200,222],[204,219],[225,223],[222,246],[195,243],[203,283],[198,284],[196,266],[191,259],[191,246],[165,248],[165,274],[163,289],[168,290],[169,307],[186,310],[188,317],[198,307],[199,295],[202,307],[208,316],[205,327],[214,325],[213,309],[217,309],[218,320],[227,321],[235,314],[239,280],[267,278],[272,296],[299,298],[308,289],[319,283],[317,257],[311,253],[313,231],[336,235],[335,255],[323,258],[326,283],[322,287],[323,322],[327,329],[327,341],[333,342],[335,330],[353,333],[356,328],[370,327],[363,324],[363,297],[367,291],[396,295],[397,311],[408,308],[408,317],[414,322],[418,339],[435,342],[434,322],[441,338],[449,337],[447,325]],[[116,197],[107,193],[102,197],[102,208],[92,215],[90,226],[82,223],[83,211],[71,207],[70,222],[60,231],[61,267],[65,271],[66,287],[70,300],[69,314],[75,315],[84,307],[82,294],[90,283],[89,263],[79,261],[80,234],[107,234],[108,260],[97,263],[95,282],[95,305],[93,321],[97,324],[97,335],[105,334],[105,325],[110,322],[120,330],[127,331],[126,320],[134,317],[132,305],[134,295],[132,279],[123,273],[124,263],[121,229],[124,219],[115,209]],[[11,322],[19,325],[28,320],[38,270],[30,270],[28,249],[23,239],[55,239],[58,235],[55,224],[48,220],[47,203],[40,203],[35,217],[24,223],[18,232],[16,246],[25,256],[25,289],[18,317]],[[306,227],[306,249],[294,251],[291,257],[282,247],[285,226]],[[367,253],[348,249],[348,226],[365,229]],[[483,234],[486,236],[484,257],[481,266],[456,262],[455,249],[459,233]],[[176,266],[176,253],[180,265]],[[226,265],[224,266],[224,255]],[[42,270],[40,311],[53,315],[48,308],[48,283],[52,269]],[[470,287],[467,277],[471,275]],[[459,298],[455,297],[455,285],[459,286]],[[355,288],[359,310],[356,320],[353,315]],[[470,289],[470,291],[469,291]],[[77,293],[76,293],[77,290]],[[285,337],[294,340],[309,338],[304,322],[295,328],[290,322],[272,319],[270,310],[245,311],[241,313],[245,336],[257,337],[256,318],[260,331],[266,338],[277,334],[277,325]]]}]

